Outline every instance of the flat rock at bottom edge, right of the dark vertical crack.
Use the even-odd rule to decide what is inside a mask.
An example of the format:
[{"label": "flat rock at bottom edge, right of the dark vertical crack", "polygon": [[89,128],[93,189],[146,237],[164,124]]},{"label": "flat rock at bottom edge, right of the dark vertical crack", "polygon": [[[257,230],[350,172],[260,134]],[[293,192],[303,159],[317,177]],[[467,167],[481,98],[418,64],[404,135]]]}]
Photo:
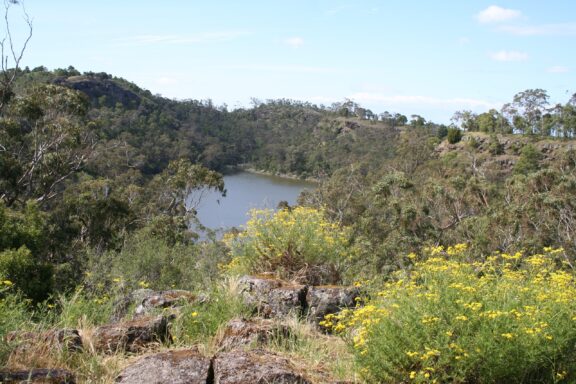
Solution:
[{"label": "flat rock at bottom edge, right of the dark vertical crack", "polygon": [[264,350],[219,353],[214,357],[214,384],[309,384],[290,361]]}]

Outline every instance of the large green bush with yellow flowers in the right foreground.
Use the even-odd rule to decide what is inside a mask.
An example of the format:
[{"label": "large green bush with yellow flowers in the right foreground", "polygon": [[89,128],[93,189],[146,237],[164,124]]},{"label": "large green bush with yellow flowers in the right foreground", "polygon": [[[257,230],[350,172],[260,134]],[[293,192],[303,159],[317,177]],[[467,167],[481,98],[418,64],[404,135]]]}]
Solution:
[{"label": "large green bush with yellow flowers in the right foreground", "polygon": [[563,250],[466,261],[466,246],[412,254],[364,307],[324,322],[368,382],[576,382],[575,273]]}]

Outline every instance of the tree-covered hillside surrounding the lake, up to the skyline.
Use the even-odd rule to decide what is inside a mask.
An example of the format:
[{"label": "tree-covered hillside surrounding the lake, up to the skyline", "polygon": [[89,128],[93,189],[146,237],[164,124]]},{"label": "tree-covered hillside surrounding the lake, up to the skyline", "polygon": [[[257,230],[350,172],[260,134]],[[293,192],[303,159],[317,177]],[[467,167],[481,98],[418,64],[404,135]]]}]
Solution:
[{"label": "tree-covered hillside surrounding the lake, up to the skyline", "polygon": [[[35,263],[65,268],[57,285],[74,284],[86,252],[119,251],[134,231],[189,238],[194,207],[183,197],[224,191],[209,170],[239,166],[320,180],[301,202],[353,229],[366,273],[395,269],[424,244],[467,242],[478,257],[545,246],[576,255],[574,98],[547,108],[544,91],[528,90],[502,112],[455,113],[461,131],[350,101],[228,111],[73,67],[25,69],[14,90],[1,196],[17,234],[2,249],[25,246]],[[30,215],[41,218],[34,230]],[[49,247],[35,249],[31,236]]]}]

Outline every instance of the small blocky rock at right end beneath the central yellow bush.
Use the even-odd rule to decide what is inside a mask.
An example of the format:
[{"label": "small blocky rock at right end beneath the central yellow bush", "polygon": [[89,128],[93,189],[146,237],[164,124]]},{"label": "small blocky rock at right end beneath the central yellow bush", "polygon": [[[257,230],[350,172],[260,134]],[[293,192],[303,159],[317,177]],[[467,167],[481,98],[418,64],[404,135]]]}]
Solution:
[{"label": "small blocky rock at right end beneath the central yellow bush", "polygon": [[356,287],[309,287],[306,293],[308,317],[318,324],[328,314],[338,313],[344,308],[354,308],[358,297],[360,290]]}]

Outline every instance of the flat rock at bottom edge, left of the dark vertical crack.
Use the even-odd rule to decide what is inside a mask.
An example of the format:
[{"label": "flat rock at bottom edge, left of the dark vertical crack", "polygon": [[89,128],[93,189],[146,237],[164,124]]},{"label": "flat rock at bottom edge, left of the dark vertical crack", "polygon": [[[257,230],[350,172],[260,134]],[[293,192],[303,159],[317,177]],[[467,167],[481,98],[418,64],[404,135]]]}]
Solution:
[{"label": "flat rock at bottom edge, left of the dark vertical crack", "polygon": [[122,384],[205,384],[210,359],[195,350],[168,351],[146,356],[116,378]]}]

